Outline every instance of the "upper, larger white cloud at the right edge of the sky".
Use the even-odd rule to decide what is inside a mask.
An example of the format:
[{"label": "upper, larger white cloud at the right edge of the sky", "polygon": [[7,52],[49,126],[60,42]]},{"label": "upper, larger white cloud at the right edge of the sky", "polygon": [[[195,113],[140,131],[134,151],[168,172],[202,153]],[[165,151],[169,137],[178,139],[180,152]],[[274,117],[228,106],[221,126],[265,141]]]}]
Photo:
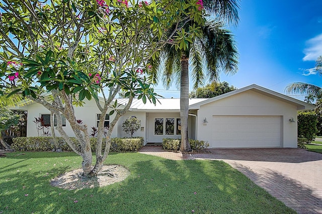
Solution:
[{"label": "upper, larger white cloud at the right edge of the sky", "polygon": [[308,48],[304,49],[303,61],[315,61],[322,55],[322,34],[306,41]]}]

